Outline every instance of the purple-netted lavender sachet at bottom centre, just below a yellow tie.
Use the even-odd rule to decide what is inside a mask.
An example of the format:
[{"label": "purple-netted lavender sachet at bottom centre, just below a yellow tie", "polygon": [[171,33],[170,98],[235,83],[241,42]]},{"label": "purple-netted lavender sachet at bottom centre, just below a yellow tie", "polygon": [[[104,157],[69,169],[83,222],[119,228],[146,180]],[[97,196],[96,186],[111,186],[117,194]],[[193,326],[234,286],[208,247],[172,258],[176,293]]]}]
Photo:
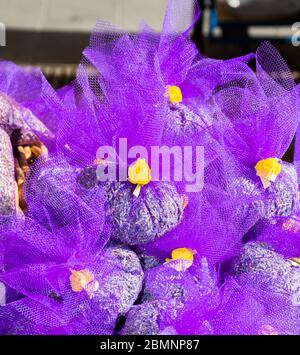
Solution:
[{"label": "purple-netted lavender sachet at bottom centre, just below a yellow tie", "polygon": [[141,304],[130,309],[121,334],[208,334],[206,315],[219,305],[217,282],[216,270],[197,255],[192,265],[171,260],[146,270]]}]

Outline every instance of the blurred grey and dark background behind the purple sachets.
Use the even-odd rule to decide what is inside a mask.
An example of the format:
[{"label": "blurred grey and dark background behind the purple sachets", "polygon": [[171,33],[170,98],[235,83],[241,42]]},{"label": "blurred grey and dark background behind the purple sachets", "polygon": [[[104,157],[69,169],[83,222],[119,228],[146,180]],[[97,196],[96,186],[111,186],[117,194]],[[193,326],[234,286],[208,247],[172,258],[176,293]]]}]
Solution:
[{"label": "blurred grey and dark background behind the purple sachets", "polygon": [[[184,1],[192,18],[193,2]],[[97,19],[131,33],[143,19],[159,31],[166,4],[167,0],[0,0],[0,23],[6,27],[1,57],[40,66],[51,84],[60,87],[73,78]],[[294,25],[300,22],[300,0],[199,0],[199,4],[201,17],[192,38],[204,55],[239,56],[255,51],[267,39],[300,80],[300,23]]]}]

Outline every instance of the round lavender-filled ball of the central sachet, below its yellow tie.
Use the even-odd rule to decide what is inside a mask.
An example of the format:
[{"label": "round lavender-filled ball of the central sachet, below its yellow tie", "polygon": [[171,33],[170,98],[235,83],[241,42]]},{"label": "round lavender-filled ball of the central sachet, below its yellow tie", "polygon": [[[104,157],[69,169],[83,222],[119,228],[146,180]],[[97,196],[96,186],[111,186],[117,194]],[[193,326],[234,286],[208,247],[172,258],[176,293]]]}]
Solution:
[{"label": "round lavender-filled ball of the central sachet, below its yellow tie", "polygon": [[181,221],[180,195],[169,183],[144,186],[139,197],[134,185],[110,182],[105,185],[107,213],[114,227],[113,238],[136,245],[154,241]]}]

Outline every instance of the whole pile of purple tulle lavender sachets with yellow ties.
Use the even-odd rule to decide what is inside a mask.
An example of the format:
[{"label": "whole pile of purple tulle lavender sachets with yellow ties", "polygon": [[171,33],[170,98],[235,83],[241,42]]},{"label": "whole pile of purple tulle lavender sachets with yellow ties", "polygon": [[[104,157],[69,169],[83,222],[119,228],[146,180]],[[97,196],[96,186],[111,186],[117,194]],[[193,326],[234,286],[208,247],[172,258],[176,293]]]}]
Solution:
[{"label": "whole pile of purple tulle lavender sachets with yellow ties", "polygon": [[0,62],[0,334],[300,334],[300,88],[198,16],[98,22],[58,91]]}]

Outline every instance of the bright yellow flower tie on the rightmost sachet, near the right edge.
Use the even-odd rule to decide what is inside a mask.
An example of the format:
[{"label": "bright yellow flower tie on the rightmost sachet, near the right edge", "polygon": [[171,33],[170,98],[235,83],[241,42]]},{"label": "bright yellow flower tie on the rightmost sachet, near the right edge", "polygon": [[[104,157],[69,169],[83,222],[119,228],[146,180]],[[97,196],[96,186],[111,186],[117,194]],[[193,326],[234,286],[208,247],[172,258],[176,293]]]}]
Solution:
[{"label": "bright yellow flower tie on the rightmost sachet, near the right edge", "polygon": [[260,177],[264,189],[267,189],[271,182],[275,182],[281,172],[281,165],[277,158],[268,158],[260,160],[256,165],[256,175]]}]

